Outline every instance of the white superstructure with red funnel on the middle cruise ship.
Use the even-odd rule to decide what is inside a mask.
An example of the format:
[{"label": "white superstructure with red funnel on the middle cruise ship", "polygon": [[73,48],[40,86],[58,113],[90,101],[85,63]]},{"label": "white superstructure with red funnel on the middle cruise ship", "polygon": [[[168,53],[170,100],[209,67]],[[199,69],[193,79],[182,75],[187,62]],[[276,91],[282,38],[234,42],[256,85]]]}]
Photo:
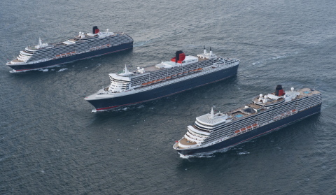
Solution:
[{"label": "white superstructure with red funnel on the middle cruise ship", "polygon": [[217,57],[212,50],[206,52],[205,48],[204,53],[197,57],[186,56],[182,51],[178,52],[176,52],[176,57],[179,58],[177,61],[174,57],[171,61],[154,66],[137,67],[134,71],[129,71],[125,66],[121,73],[110,73],[111,84],[85,99],[125,96],[239,65],[239,59]]}]

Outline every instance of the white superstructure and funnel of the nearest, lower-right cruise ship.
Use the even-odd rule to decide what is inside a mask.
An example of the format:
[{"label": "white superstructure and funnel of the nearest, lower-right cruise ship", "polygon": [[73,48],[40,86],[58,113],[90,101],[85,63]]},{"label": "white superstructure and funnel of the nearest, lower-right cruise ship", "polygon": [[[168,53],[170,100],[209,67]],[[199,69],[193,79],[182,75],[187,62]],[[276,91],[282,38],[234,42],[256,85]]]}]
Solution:
[{"label": "white superstructure and funnel of the nearest, lower-right cruise ship", "polygon": [[276,92],[255,96],[252,103],[228,113],[211,112],[196,117],[187,133],[175,145],[176,150],[209,147],[272,122],[285,119],[322,103],[321,92],[304,88],[283,92],[278,85]]}]

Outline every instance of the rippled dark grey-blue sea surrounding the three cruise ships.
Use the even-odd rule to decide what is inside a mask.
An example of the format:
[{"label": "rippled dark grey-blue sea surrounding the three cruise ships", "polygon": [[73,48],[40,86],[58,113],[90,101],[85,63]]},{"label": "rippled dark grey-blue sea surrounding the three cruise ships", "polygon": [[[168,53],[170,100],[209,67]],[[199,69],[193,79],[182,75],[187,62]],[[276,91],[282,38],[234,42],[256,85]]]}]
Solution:
[{"label": "rippled dark grey-blue sea surrounding the three cruise ships", "polygon": [[[0,3],[0,194],[336,194],[336,1],[18,1]],[[134,48],[9,73],[27,45],[79,31],[125,31]],[[241,60],[237,76],[125,109],[91,113],[109,73],[176,50]],[[202,157],[175,140],[209,113],[276,85],[323,94],[321,113]]]}]

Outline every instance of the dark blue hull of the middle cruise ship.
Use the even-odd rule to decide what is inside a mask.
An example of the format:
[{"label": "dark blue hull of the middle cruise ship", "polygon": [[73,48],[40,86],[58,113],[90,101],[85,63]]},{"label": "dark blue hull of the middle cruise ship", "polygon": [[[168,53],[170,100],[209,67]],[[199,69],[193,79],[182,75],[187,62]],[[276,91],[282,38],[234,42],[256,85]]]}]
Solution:
[{"label": "dark blue hull of the middle cruise ship", "polygon": [[192,89],[194,87],[200,87],[202,85],[207,85],[211,82],[217,82],[219,80],[229,78],[237,74],[238,66],[239,65],[227,69],[222,69],[221,71],[216,71],[207,75],[201,75],[199,77],[190,78],[188,80],[181,80],[181,82],[172,83],[170,85],[165,85],[156,89],[149,89],[145,92],[139,92],[136,94],[119,96],[110,99],[95,99],[87,101],[89,101],[92,106],[96,108],[96,110],[106,110],[111,108],[118,108],[120,106],[128,106],[135,103],[141,103],[144,101],[151,101],[153,99],[159,99],[164,96],[169,96],[172,94],[183,92],[188,89]]}]

